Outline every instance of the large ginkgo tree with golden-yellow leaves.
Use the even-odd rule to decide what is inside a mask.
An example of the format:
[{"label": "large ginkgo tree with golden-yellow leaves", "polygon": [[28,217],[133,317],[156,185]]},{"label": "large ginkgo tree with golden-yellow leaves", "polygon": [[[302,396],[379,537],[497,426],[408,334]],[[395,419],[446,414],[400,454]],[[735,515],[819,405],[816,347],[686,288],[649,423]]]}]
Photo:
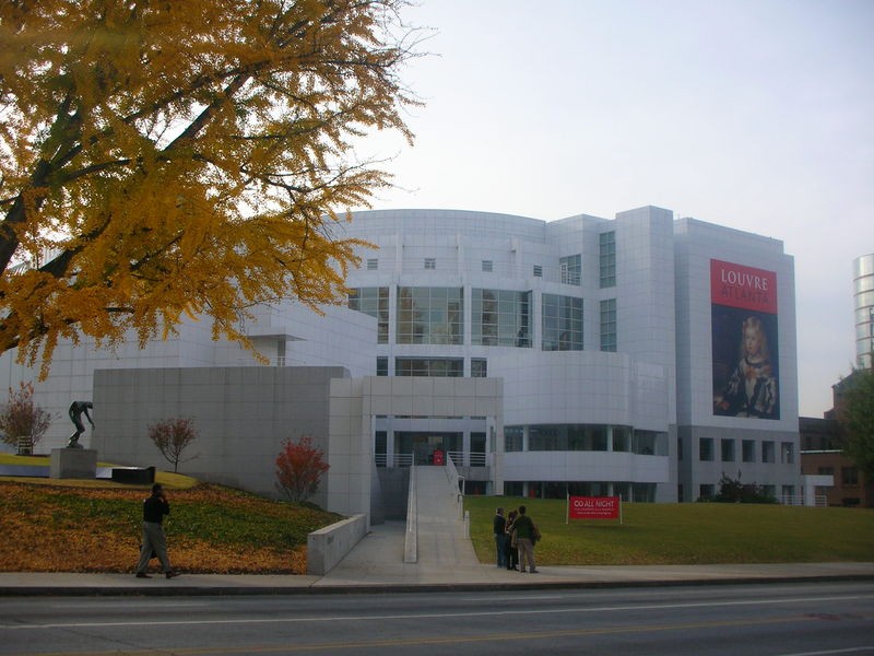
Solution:
[{"label": "large ginkgo tree with golden-yellow leaves", "polygon": [[[343,296],[346,209],[412,140],[405,0],[0,2],[0,352]],[[248,344],[250,345],[250,344]]]}]

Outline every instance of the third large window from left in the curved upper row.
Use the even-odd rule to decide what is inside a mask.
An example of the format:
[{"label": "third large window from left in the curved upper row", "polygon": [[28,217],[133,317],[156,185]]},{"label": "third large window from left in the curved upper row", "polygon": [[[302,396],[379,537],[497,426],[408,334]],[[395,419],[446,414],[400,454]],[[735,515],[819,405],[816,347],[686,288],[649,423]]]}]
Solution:
[{"label": "third large window from left in the curved upper row", "polygon": [[531,347],[531,292],[471,290],[471,343]]}]

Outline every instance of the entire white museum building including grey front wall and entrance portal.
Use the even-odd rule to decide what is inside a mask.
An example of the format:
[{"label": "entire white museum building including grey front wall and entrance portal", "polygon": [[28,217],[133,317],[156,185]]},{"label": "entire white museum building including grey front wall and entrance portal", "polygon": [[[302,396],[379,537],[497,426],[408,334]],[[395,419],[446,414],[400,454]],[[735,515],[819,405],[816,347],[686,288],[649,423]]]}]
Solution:
[{"label": "entire white museum building including grey front wall and entrance portal", "polygon": [[[93,398],[102,458],[161,466],[145,423],[200,413],[204,455],[187,471],[259,492],[272,489],[271,454],[300,434],[293,424],[317,426],[331,462],[317,501],[341,513],[371,511],[377,468],[439,452],[469,493],[694,501],[723,473],[798,492],[793,262],[780,242],[652,207],[553,222],[368,211],[343,230],[376,246],[349,276],[350,309],[319,317],[290,303],[246,326],[272,366],[334,367],[319,383],[327,403],[274,412],[270,399],[292,403],[295,393],[270,386],[300,377],[233,376],[256,362],[213,342],[204,319],[143,351],[135,340],[116,353],[59,348],[36,384],[37,402],[59,415],[40,450],[63,446],[70,402]],[[95,385],[107,368],[125,371]],[[175,394],[161,368],[204,387]],[[215,380],[188,370],[215,370]],[[747,382],[732,388],[739,371]],[[9,353],[0,375],[13,387],[36,380]],[[122,385],[147,399],[132,414]],[[215,395],[244,396],[270,419],[247,432],[236,414],[248,410]],[[237,438],[251,446],[228,446]]]}]

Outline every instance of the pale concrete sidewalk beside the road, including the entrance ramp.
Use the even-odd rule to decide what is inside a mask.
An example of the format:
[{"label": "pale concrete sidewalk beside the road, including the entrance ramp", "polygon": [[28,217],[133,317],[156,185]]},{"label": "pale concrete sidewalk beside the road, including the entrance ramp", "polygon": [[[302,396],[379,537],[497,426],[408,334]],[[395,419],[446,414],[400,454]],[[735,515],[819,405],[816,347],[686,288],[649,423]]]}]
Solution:
[{"label": "pale concrete sidewalk beside the road, including the entrance ramp", "polygon": [[[425,468],[426,470],[429,468]],[[869,563],[718,565],[538,565],[510,572],[476,560],[464,537],[456,496],[442,468],[418,477],[416,563],[404,563],[403,522],[370,532],[324,576],[186,574],[144,581],[130,574],[0,573],[0,596],[25,595],[277,595],[373,591],[597,588],[799,581],[871,581]],[[440,477],[436,477],[439,472]]]}]

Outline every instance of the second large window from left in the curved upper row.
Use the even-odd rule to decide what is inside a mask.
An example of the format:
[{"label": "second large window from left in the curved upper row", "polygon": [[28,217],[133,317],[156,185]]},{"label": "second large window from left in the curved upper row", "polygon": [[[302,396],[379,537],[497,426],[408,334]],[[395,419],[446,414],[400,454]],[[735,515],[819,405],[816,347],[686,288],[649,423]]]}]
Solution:
[{"label": "second large window from left in the curved upper row", "polygon": [[399,344],[461,344],[463,338],[463,289],[398,288]]}]

